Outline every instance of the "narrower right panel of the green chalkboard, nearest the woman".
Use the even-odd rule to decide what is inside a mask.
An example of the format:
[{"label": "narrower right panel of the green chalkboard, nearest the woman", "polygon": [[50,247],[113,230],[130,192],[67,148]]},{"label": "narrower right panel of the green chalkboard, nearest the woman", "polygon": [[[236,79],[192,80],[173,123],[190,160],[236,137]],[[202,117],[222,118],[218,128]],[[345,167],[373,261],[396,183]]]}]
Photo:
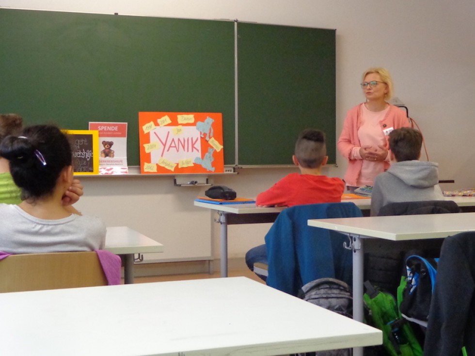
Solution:
[{"label": "narrower right panel of the green chalkboard, nearest the woman", "polygon": [[239,165],[292,164],[302,129],[335,163],[335,30],[238,23]]}]

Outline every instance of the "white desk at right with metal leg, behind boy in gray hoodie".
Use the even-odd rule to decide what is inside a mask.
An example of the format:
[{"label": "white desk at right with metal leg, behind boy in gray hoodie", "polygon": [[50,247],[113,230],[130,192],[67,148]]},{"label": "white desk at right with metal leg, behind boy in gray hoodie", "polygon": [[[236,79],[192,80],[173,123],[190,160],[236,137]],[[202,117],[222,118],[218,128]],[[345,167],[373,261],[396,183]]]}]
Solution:
[{"label": "white desk at right with metal leg, behind boy in gray hoodie", "polygon": [[[349,236],[353,250],[353,318],[363,321],[364,238],[391,241],[439,239],[475,230],[475,212],[312,219],[308,225]],[[343,247],[342,247],[343,248]],[[361,352],[361,353],[358,353]],[[362,351],[353,355],[363,355]]]}]

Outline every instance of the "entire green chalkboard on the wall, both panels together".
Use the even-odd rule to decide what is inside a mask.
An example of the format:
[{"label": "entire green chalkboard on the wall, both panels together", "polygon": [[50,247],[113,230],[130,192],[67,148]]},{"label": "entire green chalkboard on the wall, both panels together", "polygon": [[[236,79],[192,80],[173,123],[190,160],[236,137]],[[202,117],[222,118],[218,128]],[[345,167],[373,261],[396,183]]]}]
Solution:
[{"label": "entire green chalkboard on the wall, both panels together", "polygon": [[222,113],[226,165],[291,164],[307,127],[335,162],[334,30],[0,9],[0,53],[0,113],[128,122],[129,165],[141,111]]}]

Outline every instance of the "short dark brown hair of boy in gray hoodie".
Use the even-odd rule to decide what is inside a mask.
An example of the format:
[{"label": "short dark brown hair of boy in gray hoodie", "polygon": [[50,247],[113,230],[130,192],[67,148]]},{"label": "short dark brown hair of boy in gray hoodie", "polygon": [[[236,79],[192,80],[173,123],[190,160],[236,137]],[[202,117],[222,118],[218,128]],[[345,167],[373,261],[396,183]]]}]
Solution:
[{"label": "short dark brown hair of boy in gray hoodie", "polygon": [[418,160],[422,148],[422,133],[412,128],[400,128],[389,134],[389,148],[397,162]]}]

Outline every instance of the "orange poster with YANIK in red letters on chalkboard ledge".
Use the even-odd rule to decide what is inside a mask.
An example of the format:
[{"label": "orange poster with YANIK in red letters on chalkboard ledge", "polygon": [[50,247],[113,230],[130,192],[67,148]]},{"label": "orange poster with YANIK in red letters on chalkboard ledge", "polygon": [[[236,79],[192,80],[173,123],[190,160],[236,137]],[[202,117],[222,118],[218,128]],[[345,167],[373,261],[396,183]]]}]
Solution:
[{"label": "orange poster with YANIK in red letters on chalkboard ledge", "polygon": [[139,113],[140,171],[223,173],[221,113]]}]

